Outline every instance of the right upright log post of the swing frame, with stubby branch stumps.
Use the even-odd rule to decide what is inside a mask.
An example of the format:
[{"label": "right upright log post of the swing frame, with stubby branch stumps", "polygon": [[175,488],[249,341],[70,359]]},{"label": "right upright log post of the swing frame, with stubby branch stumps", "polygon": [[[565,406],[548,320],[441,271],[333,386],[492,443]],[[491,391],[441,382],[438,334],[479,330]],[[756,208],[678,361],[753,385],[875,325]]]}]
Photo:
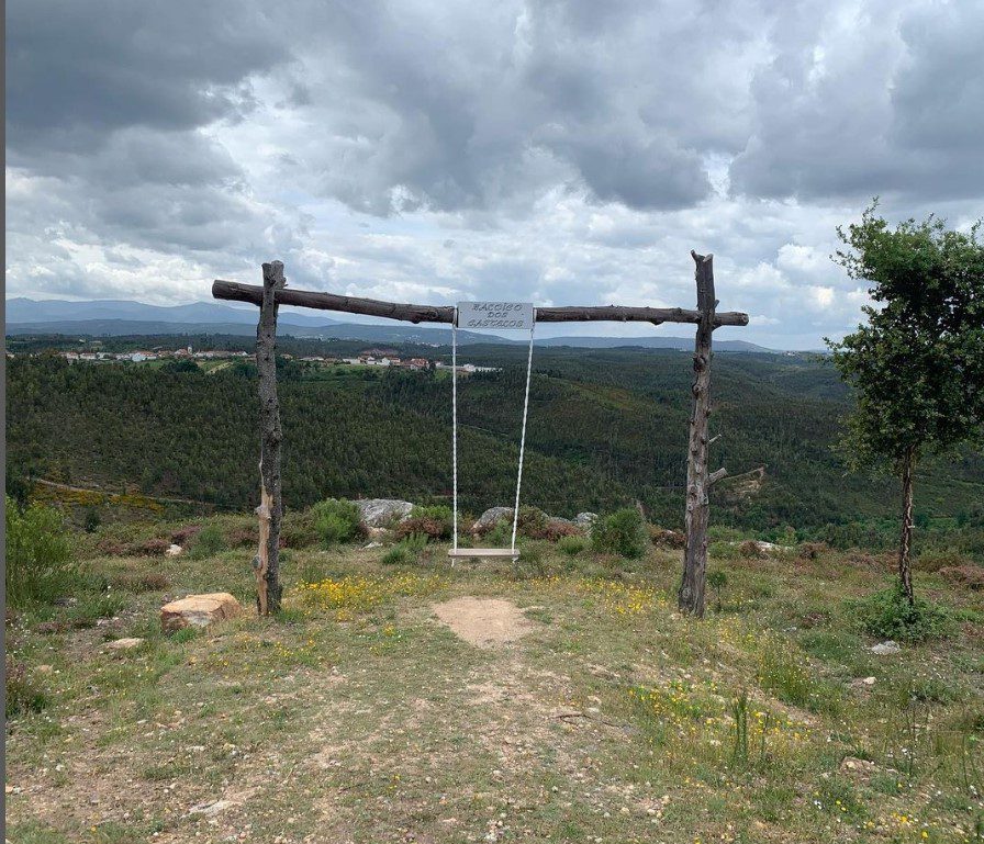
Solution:
[{"label": "right upright log post of the swing frame, with stubby branch stumps", "polygon": [[701,322],[694,344],[694,412],[690,420],[690,443],[686,460],[686,547],[683,554],[683,577],[678,604],[681,611],[704,617],[704,577],[707,567],[707,519],[711,484],[725,475],[707,469],[708,417],[711,416],[711,338],[714,333],[713,256],[691,252],[696,263],[697,310]]}]

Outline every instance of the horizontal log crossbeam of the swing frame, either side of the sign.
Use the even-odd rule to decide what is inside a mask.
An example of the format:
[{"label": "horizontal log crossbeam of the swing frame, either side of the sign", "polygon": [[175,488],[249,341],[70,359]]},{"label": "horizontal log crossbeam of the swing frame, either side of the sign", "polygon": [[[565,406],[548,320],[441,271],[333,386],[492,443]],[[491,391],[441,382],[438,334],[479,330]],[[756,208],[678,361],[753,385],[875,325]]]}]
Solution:
[{"label": "horizontal log crossbeam of the swing frame, either side of the sign", "polygon": [[[264,289],[258,284],[241,284],[235,281],[216,280],[212,284],[212,295],[232,302],[249,302],[262,304]],[[277,291],[278,305],[297,305],[318,311],[340,311],[346,314],[365,316],[382,316],[387,319],[401,319],[404,323],[447,323],[455,319],[455,308],[450,305],[410,305],[395,302],[382,302],[377,299],[357,299],[339,296],[335,293],[318,293],[308,290]],[[538,307],[538,323],[691,323],[701,322],[700,311],[682,307],[624,307],[620,305],[600,305],[591,307]],[[722,325],[748,325],[748,314],[733,311],[717,312],[714,315],[714,327]]]}]

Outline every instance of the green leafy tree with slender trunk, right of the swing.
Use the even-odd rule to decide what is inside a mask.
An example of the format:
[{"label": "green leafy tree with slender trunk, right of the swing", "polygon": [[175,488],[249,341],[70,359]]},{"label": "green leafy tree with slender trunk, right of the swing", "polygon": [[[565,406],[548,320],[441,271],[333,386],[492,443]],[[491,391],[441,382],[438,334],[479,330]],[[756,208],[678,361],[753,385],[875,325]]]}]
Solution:
[{"label": "green leafy tree with slender trunk, right of the swing", "polygon": [[868,323],[827,344],[857,407],[842,442],[854,468],[887,465],[902,483],[901,588],[914,604],[909,566],[913,480],[926,453],[979,443],[984,432],[984,247],[980,223],[949,230],[929,216],[892,228],[876,216],[837,234],[835,261],[870,284]]}]

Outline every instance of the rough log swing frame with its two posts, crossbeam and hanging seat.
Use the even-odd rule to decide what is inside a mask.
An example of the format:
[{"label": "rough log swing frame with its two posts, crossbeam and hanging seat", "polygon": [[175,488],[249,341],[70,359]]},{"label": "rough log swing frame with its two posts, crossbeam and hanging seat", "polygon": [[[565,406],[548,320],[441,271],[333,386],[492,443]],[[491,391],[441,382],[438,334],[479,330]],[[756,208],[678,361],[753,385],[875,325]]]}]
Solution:
[{"label": "rough log swing frame with its two posts, crossbeam and hanging seat", "polygon": [[[690,441],[686,459],[686,511],[684,515],[686,544],[683,576],[678,603],[680,609],[700,617],[704,615],[704,572],[707,565],[707,524],[709,517],[708,493],[711,486],[727,474],[725,469],[708,470],[708,417],[711,416],[711,357],[712,336],[723,325],[746,326],[748,314],[718,312],[714,297],[713,256],[691,252],[696,265],[697,307],[626,307],[622,305],[589,307],[537,307],[537,323],[681,323],[695,325],[693,371],[693,414],[690,419]],[[444,323],[455,319],[452,306],[412,305],[383,302],[373,299],[340,296],[304,290],[287,290],[283,263],[271,261],[262,266],[264,283],[241,284],[216,280],[212,284],[215,299],[249,302],[259,307],[256,331],[256,363],[259,370],[260,398],[260,506],[259,551],[254,559],[257,581],[257,610],[268,615],[280,608],[279,540],[283,514],[280,482],[280,444],[283,431],[280,427],[280,406],[277,398],[277,312],[280,305],[295,305],[318,311],[336,311],[346,314],[381,316],[413,324]],[[716,439],[716,438],[715,438]],[[485,551],[484,554],[477,552]],[[489,554],[495,551],[495,554]],[[513,556],[512,549],[459,549],[456,556]]]}]

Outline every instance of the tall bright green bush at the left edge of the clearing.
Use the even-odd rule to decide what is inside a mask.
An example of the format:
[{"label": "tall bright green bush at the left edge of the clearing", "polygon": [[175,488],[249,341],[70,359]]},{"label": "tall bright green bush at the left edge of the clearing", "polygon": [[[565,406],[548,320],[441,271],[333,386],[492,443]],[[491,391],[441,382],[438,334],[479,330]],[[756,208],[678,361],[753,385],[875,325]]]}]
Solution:
[{"label": "tall bright green bush at the left edge of the clearing", "polygon": [[36,504],[20,510],[8,497],[5,521],[9,606],[49,603],[78,585],[78,565],[57,510]]}]

